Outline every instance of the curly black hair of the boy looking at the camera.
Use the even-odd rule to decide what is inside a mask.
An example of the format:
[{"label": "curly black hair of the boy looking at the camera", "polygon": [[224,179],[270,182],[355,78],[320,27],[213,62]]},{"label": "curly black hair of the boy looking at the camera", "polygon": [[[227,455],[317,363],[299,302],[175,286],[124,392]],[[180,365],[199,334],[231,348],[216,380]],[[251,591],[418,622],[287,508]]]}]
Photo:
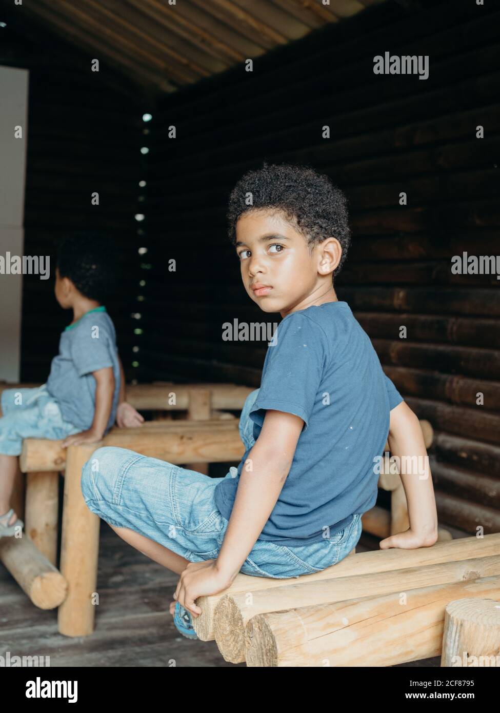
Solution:
[{"label": "curly black hair of the boy looking at the camera", "polygon": [[[248,205],[248,196],[252,203]],[[248,171],[238,180],[228,202],[228,236],[236,243],[236,223],[243,213],[262,208],[281,210],[285,219],[312,246],[335,237],[342,247],[340,263],[332,277],[338,275],[350,245],[347,198],[330,178],[317,173],[310,165],[290,163],[267,164]]]}]

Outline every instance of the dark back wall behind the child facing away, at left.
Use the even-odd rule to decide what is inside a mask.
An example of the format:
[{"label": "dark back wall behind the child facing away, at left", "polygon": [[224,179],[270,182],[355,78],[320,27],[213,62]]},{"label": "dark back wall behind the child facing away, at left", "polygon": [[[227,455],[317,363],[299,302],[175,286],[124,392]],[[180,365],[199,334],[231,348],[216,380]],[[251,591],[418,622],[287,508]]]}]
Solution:
[{"label": "dark back wall behind the child facing away, at left", "polygon": [[[10,7],[12,5],[12,7]],[[73,230],[103,230],[120,252],[121,289],[106,304],[116,326],[118,348],[129,379],[135,371],[133,330],[138,312],[141,262],[139,180],[147,178],[141,154],[141,92],[99,56],[82,53],[39,26],[14,4],[1,5],[0,63],[29,69],[25,255],[49,255],[51,278],[25,275],[23,282],[21,380],[44,381],[57,354],[69,312],[53,295],[56,241]],[[91,61],[99,59],[99,71]],[[92,194],[98,193],[98,205]],[[8,250],[8,246],[2,246]]]}]

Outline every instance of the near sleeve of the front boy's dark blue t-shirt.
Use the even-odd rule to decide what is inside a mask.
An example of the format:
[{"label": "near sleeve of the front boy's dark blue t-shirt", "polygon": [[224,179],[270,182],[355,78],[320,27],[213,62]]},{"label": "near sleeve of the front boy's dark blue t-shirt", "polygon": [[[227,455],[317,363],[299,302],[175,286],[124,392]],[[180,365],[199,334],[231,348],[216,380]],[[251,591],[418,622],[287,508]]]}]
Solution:
[{"label": "near sleeve of the front boy's dark blue t-shirt", "polygon": [[250,419],[262,426],[268,409],[285,411],[300,416],[306,429],[328,357],[326,334],[297,312],[278,325],[272,341]]}]

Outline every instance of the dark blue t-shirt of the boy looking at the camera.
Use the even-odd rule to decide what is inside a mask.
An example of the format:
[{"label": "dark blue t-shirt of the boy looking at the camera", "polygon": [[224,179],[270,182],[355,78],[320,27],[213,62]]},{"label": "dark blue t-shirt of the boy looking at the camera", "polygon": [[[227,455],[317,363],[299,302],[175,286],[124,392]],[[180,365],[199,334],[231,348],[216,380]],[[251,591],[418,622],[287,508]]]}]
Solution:
[{"label": "dark blue t-shirt of the boy looking at the camera", "polygon": [[[377,500],[374,458],[384,451],[389,411],[403,399],[385,376],[372,342],[347,302],[288,314],[267,348],[250,411],[257,440],[267,409],[304,421],[285,485],[258,539],[282,545],[319,542]],[[223,478],[215,504],[228,520],[240,473]],[[329,528],[326,530],[325,528]]]}]

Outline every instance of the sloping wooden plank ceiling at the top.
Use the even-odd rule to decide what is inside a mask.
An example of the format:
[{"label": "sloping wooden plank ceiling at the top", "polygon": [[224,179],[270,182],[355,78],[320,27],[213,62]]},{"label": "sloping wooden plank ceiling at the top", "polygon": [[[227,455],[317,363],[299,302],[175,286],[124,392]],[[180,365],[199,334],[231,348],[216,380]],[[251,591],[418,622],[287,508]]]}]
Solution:
[{"label": "sloping wooden plank ceiling at the top", "polygon": [[146,93],[172,92],[383,0],[36,0],[45,27]]}]

